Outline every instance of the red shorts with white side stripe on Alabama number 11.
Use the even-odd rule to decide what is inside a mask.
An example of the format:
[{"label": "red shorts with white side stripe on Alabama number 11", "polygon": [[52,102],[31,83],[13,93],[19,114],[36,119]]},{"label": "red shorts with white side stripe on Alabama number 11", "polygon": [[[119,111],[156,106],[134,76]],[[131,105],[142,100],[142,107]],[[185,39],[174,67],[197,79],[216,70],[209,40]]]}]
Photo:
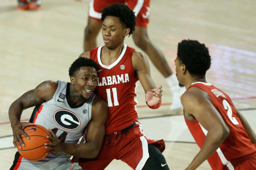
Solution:
[{"label": "red shorts with white side stripe on Alabama number 11", "polygon": [[122,134],[105,136],[102,148],[96,158],[80,158],[79,165],[89,170],[104,170],[114,160],[122,160],[131,168],[141,170],[149,158],[148,143],[154,143],[160,151],[164,142],[147,139],[142,132],[142,125],[136,121],[135,126]]}]

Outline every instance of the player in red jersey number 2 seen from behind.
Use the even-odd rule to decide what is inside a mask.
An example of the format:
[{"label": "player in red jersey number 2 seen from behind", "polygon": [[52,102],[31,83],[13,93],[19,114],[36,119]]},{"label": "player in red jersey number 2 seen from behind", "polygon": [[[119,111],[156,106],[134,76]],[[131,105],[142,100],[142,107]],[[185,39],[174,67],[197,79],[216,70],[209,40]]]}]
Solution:
[{"label": "player in red jersey number 2 seen from behind", "polygon": [[230,97],[206,82],[211,56],[204,44],[194,40],[178,43],[176,76],[187,91],[182,95],[184,117],[201,148],[186,170],[206,159],[213,170],[255,170],[256,136]]}]

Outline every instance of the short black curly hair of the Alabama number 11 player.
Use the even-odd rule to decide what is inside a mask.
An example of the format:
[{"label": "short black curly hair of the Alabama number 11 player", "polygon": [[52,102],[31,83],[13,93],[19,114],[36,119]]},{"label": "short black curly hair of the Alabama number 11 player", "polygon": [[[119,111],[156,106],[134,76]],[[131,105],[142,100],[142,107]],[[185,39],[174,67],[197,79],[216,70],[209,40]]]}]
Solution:
[{"label": "short black curly hair of the Alabama number 11 player", "polygon": [[136,25],[136,16],[134,13],[127,5],[115,3],[103,9],[100,19],[104,21],[107,16],[118,17],[125,24],[126,28],[130,28],[129,35],[131,35],[135,31]]}]

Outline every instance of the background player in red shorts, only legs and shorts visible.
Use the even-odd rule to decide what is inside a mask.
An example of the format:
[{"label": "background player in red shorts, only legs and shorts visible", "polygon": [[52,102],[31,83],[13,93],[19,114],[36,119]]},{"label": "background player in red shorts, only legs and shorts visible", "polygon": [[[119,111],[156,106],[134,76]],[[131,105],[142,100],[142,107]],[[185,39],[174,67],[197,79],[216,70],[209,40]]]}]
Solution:
[{"label": "background player in red shorts, only legs and shorts visible", "polygon": [[142,49],[150,58],[152,63],[166,79],[170,90],[173,94],[171,110],[182,107],[180,96],[185,91],[178,86],[175,74],[171,71],[163,52],[157,48],[149,39],[147,34],[147,24],[150,17],[150,0],[92,0],[89,6],[88,23],[85,28],[84,51],[90,51],[97,47],[96,37],[102,27],[100,20],[104,7],[114,3],[125,3],[135,12],[136,27],[133,32],[133,41]]}]

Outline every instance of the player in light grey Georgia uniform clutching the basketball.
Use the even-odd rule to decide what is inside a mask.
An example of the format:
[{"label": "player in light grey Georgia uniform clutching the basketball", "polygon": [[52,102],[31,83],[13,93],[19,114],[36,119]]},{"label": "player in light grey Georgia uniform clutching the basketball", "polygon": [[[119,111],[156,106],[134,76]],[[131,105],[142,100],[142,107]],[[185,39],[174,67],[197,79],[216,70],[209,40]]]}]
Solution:
[{"label": "player in light grey Georgia uniform clutching the basketball", "polygon": [[[10,170],[81,170],[70,156],[93,158],[98,155],[105,134],[108,105],[93,93],[99,67],[92,59],[79,58],[69,68],[70,83],[45,81],[15,100],[9,109],[14,146],[22,148],[21,134],[30,124],[39,124],[54,133],[43,160],[33,162],[18,152]],[[22,110],[36,106],[29,122],[20,122]],[[63,119],[64,117],[64,119]],[[87,143],[77,144],[87,127]],[[56,138],[58,137],[58,139]],[[52,151],[54,151],[52,153]]]}]

